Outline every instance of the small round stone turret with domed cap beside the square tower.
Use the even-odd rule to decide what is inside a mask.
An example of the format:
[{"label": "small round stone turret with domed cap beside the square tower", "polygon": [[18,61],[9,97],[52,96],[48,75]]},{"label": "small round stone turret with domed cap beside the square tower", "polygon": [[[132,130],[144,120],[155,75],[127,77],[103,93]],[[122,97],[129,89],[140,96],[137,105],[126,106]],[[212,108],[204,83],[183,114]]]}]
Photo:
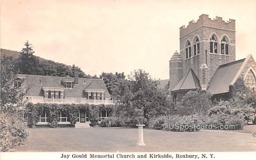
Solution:
[{"label": "small round stone turret with domed cap beside the square tower", "polygon": [[170,90],[182,79],[182,57],[175,51],[169,61]]}]

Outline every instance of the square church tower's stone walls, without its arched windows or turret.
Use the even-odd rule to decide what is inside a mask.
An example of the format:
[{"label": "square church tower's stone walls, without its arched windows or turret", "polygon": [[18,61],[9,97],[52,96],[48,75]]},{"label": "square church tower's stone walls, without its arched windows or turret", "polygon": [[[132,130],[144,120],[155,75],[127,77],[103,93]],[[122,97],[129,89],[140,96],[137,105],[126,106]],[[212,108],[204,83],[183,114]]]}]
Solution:
[{"label": "square church tower's stone walls, without its arched windows or turret", "polygon": [[[235,37],[235,20],[229,19],[229,23],[222,21],[221,17],[216,17],[217,20],[212,20],[208,15],[201,15],[197,22],[191,21],[187,28],[182,26],[180,28],[180,54],[182,56],[182,74],[188,72],[192,68],[199,80],[203,80],[203,76],[200,75],[200,66],[206,63],[208,66],[208,76],[206,84],[208,86],[209,81],[216,72],[216,69],[223,64],[236,60],[236,37]],[[210,37],[215,34],[218,38],[218,54],[210,53]],[[193,40],[195,36],[200,39],[200,54],[194,55]],[[229,55],[222,55],[220,48],[220,40],[223,36],[226,36],[229,41]],[[185,43],[191,42],[191,54],[192,57],[186,59]],[[207,50],[207,56],[205,51]]]}]

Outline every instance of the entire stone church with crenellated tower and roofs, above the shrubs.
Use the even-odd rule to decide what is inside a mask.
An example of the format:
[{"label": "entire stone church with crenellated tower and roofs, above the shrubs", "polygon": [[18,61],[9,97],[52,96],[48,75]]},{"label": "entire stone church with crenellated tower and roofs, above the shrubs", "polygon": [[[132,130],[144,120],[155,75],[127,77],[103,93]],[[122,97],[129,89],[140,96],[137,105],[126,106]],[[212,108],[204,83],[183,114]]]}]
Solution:
[{"label": "entire stone church with crenellated tower and roofs, above the shrubs", "polygon": [[225,22],[204,14],[180,27],[180,53],[176,51],[169,61],[174,100],[179,92],[196,89],[224,97],[238,78],[246,86],[256,87],[255,60],[251,54],[236,60],[235,33],[235,20]]}]

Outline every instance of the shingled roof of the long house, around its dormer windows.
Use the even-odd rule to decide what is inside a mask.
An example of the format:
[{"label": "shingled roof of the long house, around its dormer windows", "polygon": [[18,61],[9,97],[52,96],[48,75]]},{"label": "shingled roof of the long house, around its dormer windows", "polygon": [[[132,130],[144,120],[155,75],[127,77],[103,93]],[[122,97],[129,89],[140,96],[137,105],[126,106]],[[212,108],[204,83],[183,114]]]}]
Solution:
[{"label": "shingled roof of the long house, around its dormer windows", "polygon": [[[25,77],[25,86],[29,87],[27,96],[44,96],[42,87],[62,87],[61,82],[65,77],[41,76],[18,74],[19,77]],[[90,89],[104,89],[105,98],[110,99],[107,87],[102,79],[78,78],[78,84],[75,84],[72,89],[65,88],[65,97],[84,98],[83,90],[90,85]]]}]

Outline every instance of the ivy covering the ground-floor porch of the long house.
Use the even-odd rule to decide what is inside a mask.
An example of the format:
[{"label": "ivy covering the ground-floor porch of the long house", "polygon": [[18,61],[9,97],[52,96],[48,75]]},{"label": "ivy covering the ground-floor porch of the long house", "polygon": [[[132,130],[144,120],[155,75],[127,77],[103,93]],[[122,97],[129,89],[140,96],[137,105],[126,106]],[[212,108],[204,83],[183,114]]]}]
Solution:
[{"label": "ivy covering the ground-floor porch of the long house", "polygon": [[114,105],[89,105],[89,104],[49,104],[49,103],[28,103],[26,114],[28,116],[28,126],[35,127],[40,115],[45,111],[48,118],[49,127],[58,127],[60,112],[67,115],[71,126],[75,126],[79,118],[80,110],[85,110],[91,121],[91,126],[98,124],[101,110],[107,110],[109,116],[114,115]]}]

